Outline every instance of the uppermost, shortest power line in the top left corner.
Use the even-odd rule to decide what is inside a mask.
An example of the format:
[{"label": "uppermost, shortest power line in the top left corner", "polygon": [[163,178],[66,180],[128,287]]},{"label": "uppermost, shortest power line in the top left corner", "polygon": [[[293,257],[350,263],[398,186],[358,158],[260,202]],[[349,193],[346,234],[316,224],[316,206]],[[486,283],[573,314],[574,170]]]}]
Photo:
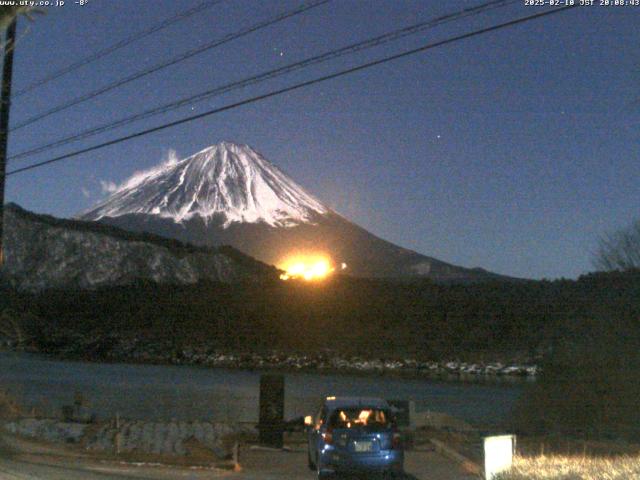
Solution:
[{"label": "uppermost, shortest power line in the top left corner", "polygon": [[127,38],[124,38],[122,40],[120,40],[117,43],[114,43],[113,45],[110,45],[106,48],[103,48],[102,50],[98,50],[97,52],[92,53],[91,55],[88,55],[70,65],[67,65],[64,68],[61,68],[60,70],[57,70],[55,72],[52,72],[51,74],[41,78],[40,80],[37,80],[35,82],[33,82],[32,84],[26,86],[25,88],[23,88],[22,90],[18,90],[13,97],[19,97],[21,95],[24,95],[25,93],[28,93],[32,90],[35,90],[38,87],[41,87],[42,85],[45,85],[49,82],[52,82],[53,80],[56,80],[64,75],[67,75],[68,73],[71,73],[81,67],[84,67],[85,65],[88,65],[90,63],[95,62],[96,60],[99,60],[103,57],[106,57],[107,55],[120,50],[123,47],[126,47],[127,45],[136,42],[138,40],[141,40],[145,37],[148,37],[149,35],[158,32],[164,28],[169,27],[170,25],[173,25],[175,23],[180,22],[181,20],[185,20],[193,15],[195,15],[196,13],[200,13],[208,8],[213,7],[214,5],[217,5],[218,3],[221,3],[223,0],[207,0],[205,2],[202,2],[198,5],[196,5],[193,8],[190,8],[188,10],[184,10],[172,17],[169,17],[165,20],[163,20],[160,23],[157,23],[156,25],[153,25],[152,27],[146,29],[146,30],[142,30],[138,33],[135,33]]}]

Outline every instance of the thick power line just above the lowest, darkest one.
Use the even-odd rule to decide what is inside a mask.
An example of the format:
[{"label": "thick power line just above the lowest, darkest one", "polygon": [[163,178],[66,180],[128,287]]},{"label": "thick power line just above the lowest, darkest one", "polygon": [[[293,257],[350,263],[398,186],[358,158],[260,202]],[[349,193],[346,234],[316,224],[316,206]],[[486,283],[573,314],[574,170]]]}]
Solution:
[{"label": "thick power line just above the lowest, darkest one", "polygon": [[361,42],[357,42],[357,43],[353,43],[351,45],[348,45],[346,47],[342,47],[336,50],[331,50],[329,52],[325,52],[323,54],[320,55],[316,55],[313,57],[309,57],[306,58],[304,60],[298,61],[298,62],[294,62],[294,63],[290,63],[288,65],[284,65],[282,67],[273,69],[273,70],[269,70],[263,73],[260,73],[258,75],[254,75],[248,78],[245,78],[243,80],[239,80],[236,82],[232,82],[226,85],[222,85],[219,87],[215,87],[213,89],[209,89],[206,90],[204,92],[198,93],[196,95],[192,95],[189,97],[185,97],[182,99],[179,99],[177,101],[173,101],[158,107],[154,107],[150,110],[146,110],[144,112],[140,112],[137,113],[135,115],[131,115],[128,117],[124,117],[121,118],[120,120],[116,120],[115,122],[108,122],[96,127],[92,127],[89,129],[86,129],[84,131],[81,131],[79,133],[76,133],[74,135],[68,136],[68,137],[63,137],[62,139],[59,140],[55,140],[53,142],[44,144],[44,145],[39,145],[37,147],[31,148],[29,150],[25,150],[22,152],[19,152],[13,156],[11,156],[9,158],[9,160],[17,160],[20,158],[24,158],[24,157],[29,157],[32,155],[35,155],[37,153],[41,153],[44,152],[46,150],[49,150],[51,148],[55,148],[55,147],[60,147],[63,145],[67,145],[69,143],[75,142],[77,140],[81,140],[81,139],[85,139],[88,137],[92,137],[94,135],[98,135],[100,133],[104,133],[110,130],[113,130],[115,128],[124,126],[124,125],[128,125],[130,123],[142,120],[142,119],[146,119],[146,118],[150,118],[153,117],[155,115],[159,115],[159,114],[163,114],[163,113],[167,113],[169,111],[175,110],[177,108],[183,107],[185,105],[190,105],[190,104],[194,104],[197,102],[201,102],[204,100],[208,100],[214,96],[219,96],[225,93],[229,93],[233,90],[237,90],[240,88],[244,88],[247,87],[249,85],[255,85],[257,83],[261,83],[263,81],[266,80],[271,80],[273,78],[279,77],[281,75],[285,75],[291,72],[294,72],[296,70],[302,69],[302,68],[306,68],[312,65],[317,65],[320,63],[324,63],[328,60],[333,60],[335,58],[338,57],[342,57],[344,55],[348,55],[348,54],[352,54],[352,53],[356,53],[368,48],[372,48],[372,47],[377,47],[383,44],[386,44],[388,42],[391,41],[395,41],[401,38],[404,38],[406,36],[409,35],[414,35],[420,32],[423,32],[427,29],[448,23],[448,22],[452,22],[452,21],[458,21],[461,20],[463,18],[467,18],[470,16],[475,16],[475,15],[479,15],[481,13],[485,13],[491,9],[495,9],[495,8],[502,8],[505,7],[507,5],[510,4],[514,4],[519,2],[520,0],[493,0],[487,3],[484,3],[482,5],[478,5],[476,7],[472,7],[472,8],[467,8],[464,10],[460,10],[454,13],[449,13],[446,15],[442,15],[440,17],[436,17],[433,19],[429,19],[423,22],[419,22],[413,25],[410,25],[408,27],[404,27],[398,30],[393,30],[391,32],[387,32],[383,35],[379,35],[377,37],[373,37]]}]

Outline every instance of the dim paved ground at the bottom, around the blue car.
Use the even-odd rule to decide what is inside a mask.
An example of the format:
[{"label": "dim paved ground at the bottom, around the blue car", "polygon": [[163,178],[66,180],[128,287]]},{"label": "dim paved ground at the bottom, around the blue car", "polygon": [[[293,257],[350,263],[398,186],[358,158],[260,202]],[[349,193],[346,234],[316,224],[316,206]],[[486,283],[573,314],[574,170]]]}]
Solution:
[{"label": "dim paved ground at the bottom, around the blue car", "polygon": [[[210,467],[180,467],[100,460],[61,447],[0,438],[0,480],[312,480],[306,452],[242,449],[240,472]],[[435,452],[407,452],[402,480],[471,480],[477,476]]]}]

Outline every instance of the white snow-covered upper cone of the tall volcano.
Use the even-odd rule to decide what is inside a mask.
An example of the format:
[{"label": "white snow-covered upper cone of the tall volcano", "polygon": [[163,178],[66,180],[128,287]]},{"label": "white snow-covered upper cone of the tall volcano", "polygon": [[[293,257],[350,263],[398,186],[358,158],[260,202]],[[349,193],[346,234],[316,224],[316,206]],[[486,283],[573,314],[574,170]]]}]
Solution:
[{"label": "white snow-covered upper cone of the tall volcano", "polygon": [[291,227],[330,210],[247,145],[221,142],[178,161],[134,174],[112,195],[83,213],[99,220],[148,214],[177,223],[234,222]]}]

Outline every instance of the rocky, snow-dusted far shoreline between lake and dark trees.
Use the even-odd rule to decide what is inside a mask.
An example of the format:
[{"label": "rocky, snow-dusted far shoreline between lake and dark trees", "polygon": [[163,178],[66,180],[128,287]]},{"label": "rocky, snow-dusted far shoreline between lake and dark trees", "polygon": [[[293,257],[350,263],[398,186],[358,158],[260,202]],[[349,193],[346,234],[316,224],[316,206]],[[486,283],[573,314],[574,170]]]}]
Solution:
[{"label": "rocky, snow-dusted far shoreline between lake and dark trees", "polygon": [[483,381],[535,380],[540,373],[533,361],[469,362],[460,360],[420,361],[412,358],[388,359],[343,356],[325,351],[315,354],[270,352],[265,354],[229,353],[208,347],[171,348],[140,339],[89,339],[67,337],[50,348],[23,348],[5,344],[8,350],[45,354],[63,360],[135,363],[155,365],[190,365],[234,370],[273,370],[322,374],[402,375],[447,380]]}]

